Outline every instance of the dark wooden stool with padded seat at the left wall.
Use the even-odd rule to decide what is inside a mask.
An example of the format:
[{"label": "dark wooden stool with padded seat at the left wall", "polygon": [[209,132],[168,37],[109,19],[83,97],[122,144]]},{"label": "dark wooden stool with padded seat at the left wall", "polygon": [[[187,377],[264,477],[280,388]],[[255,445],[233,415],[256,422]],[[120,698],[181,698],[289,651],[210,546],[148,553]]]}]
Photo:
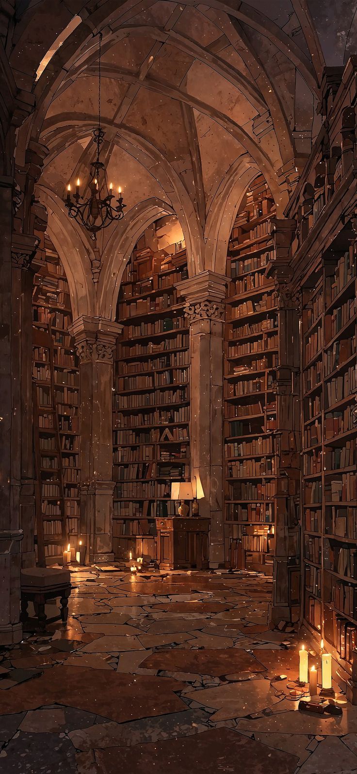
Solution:
[{"label": "dark wooden stool with padded seat at the left wall", "polygon": [[64,625],[68,618],[68,598],[71,591],[70,570],[56,570],[53,567],[29,567],[21,570],[21,613],[20,621],[26,625],[29,619],[27,608],[33,602],[40,632],[46,631],[47,616],[45,604],[49,599],[60,598],[59,615],[49,618],[48,622],[62,619]]}]

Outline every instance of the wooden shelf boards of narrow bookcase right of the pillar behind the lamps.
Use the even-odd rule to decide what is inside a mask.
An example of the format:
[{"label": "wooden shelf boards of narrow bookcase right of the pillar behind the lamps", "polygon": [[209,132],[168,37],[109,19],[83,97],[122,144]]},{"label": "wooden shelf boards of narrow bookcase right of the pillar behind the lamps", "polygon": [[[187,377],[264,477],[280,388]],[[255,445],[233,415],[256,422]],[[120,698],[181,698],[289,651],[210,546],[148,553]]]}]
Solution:
[{"label": "wooden shelf boards of narrow bookcase right of the pillar behind the lamps", "polygon": [[[261,184],[263,183],[263,178],[261,178]],[[262,189],[263,190],[263,189]],[[266,187],[266,195],[269,200],[271,199],[270,191]],[[249,224],[247,224],[247,230],[251,231],[252,229],[259,227],[259,224],[262,222],[267,222],[270,220],[270,217],[274,217],[274,210],[270,212],[270,214],[265,214],[262,217],[253,217],[254,212],[257,211],[256,206],[256,199],[255,197],[257,194],[254,193],[254,188],[252,191],[248,190],[247,192],[247,204],[246,200],[243,200],[242,204],[242,210],[244,210],[244,207],[248,207],[248,209],[251,211],[252,217],[250,217]],[[259,200],[259,207],[260,207],[260,200]],[[236,225],[241,226],[240,221],[241,215],[239,214],[238,220],[236,221]],[[233,229],[236,228],[236,225],[233,226]],[[244,228],[244,227],[243,227]],[[233,231],[233,234],[236,232]],[[259,233],[259,231],[257,231]],[[267,244],[269,242],[269,245]],[[263,248],[264,245],[264,248]],[[253,248],[253,250],[250,250],[250,248]],[[261,296],[267,296],[267,303],[271,303],[269,301],[269,298],[271,298],[275,292],[275,286],[274,282],[272,282],[271,278],[267,278],[266,272],[267,272],[267,263],[263,266],[257,266],[257,268],[250,268],[247,267],[252,264],[249,264],[249,261],[251,260],[253,263],[254,259],[257,259],[257,256],[261,255],[263,252],[263,249],[267,252],[269,252],[273,249],[271,237],[269,234],[263,235],[254,239],[251,239],[250,241],[244,242],[243,244],[236,245],[233,247],[232,241],[230,241],[230,252],[229,252],[229,260],[227,265],[227,274],[230,275],[230,266],[232,266],[232,282],[228,286],[227,289],[227,295],[226,295],[226,306],[227,313],[230,314],[230,308],[237,307],[240,304],[245,303],[247,300],[256,299],[257,301],[260,300]],[[259,259],[258,259],[259,260]],[[258,262],[257,260],[257,262]],[[243,263],[246,261],[247,263]],[[242,263],[238,263],[242,262]],[[238,269],[244,269],[246,268],[246,271],[240,272]],[[250,289],[244,288],[244,278],[252,276],[254,274],[257,274],[260,276],[260,279],[263,279],[263,285],[259,285],[257,287],[253,287]],[[238,288],[241,287],[242,290],[239,292]],[[243,307],[244,308],[244,307]],[[242,310],[242,309],[241,309]],[[240,311],[241,311],[240,310]],[[263,320],[271,319],[274,320],[272,324],[274,324],[274,327],[268,328],[267,330],[263,329],[262,322]],[[265,322],[263,323],[265,324]],[[240,330],[244,330],[245,326],[253,326],[255,329],[253,333],[246,334],[244,333],[241,335],[239,333]],[[250,330],[250,327],[246,328],[245,330]],[[224,454],[225,454],[225,464],[226,464],[226,495],[225,495],[225,543],[226,543],[226,557],[230,557],[231,560],[231,566],[232,567],[238,567],[238,569],[244,569],[246,567],[246,552],[247,553],[253,553],[260,554],[260,562],[250,562],[249,561],[249,567],[250,569],[253,567],[254,569],[259,569],[261,572],[267,572],[268,574],[271,574],[272,570],[272,556],[273,552],[267,551],[267,545],[263,542],[263,532],[262,530],[265,530],[267,528],[270,528],[274,526],[274,498],[275,495],[262,495],[260,498],[257,498],[257,490],[255,489],[254,485],[252,485],[252,488],[250,489],[250,481],[264,481],[264,479],[267,479],[269,481],[269,490],[270,488],[272,491],[275,491],[274,487],[274,480],[276,478],[276,474],[271,473],[263,473],[259,470],[259,462],[255,464],[251,464],[251,467],[253,468],[254,474],[240,474],[240,465],[243,464],[244,461],[263,461],[265,459],[273,459],[275,457],[275,451],[271,450],[269,452],[266,451],[255,451],[254,454],[243,454],[236,457],[231,457],[228,452],[228,444],[237,444],[238,447],[240,447],[241,444],[244,444],[247,442],[251,442],[251,440],[262,438],[265,442],[271,437],[274,437],[275,434],[275,428],[274,430],[266,430],[266,418],[271,416],[274,416],[274,418],[277,416],[277,406],[276,402],[274,400],[274,407],[272,409],[267,408],[267,402],[272,402],[272,396],[274,395],[274,385],[267,383],[267,375],[273,375],[276,371],[277,365],[269,365],[271,362],[271,358],[278,356],[279,354],[279,347],[278,344],[274,346],[273,348],[267,349],[266,347],[261,346],[260,351],[250,351],[250,352],[244,352],[242,351],[243,348],[240,347],[240,344],[243,342],[248,341],[269,341],[271,336],[278,336],[279,335],[279,328],[277,327],[277,306],[274,305],[270,308],[264,308],[260,310],[250,311],[247,313],[242,314],[241,317],[234,317],[232,319],[226,319],[226,325],[225,325],[225,356],[224,356],[224,382],[226,385],[226,389],[224,392],[226,395],[224,396],[224,403],[226,405],[226,409],[224,411],[225,414],[225,425],[224,425]],[[232,352],[236,351],[237,354],[231,354]],[[247,371],[245,372],[238,372],[238,373],[232,373],[231,368],[233,365],[242,365],[244,364],[251,364],[252,361],[263,361],[263,358],[267,358],[265,361],[265,365],[263,367],[257,367],[257,370],[249,369],[247,368]],[[247,382],[255,383],[255,381],[258,380],[258,386],[259,390],[249,390],[248,392],[244,392],[242,395],[231,395],[229,396],[228,393],[228,386],[231,385],[245,385],[247,386]],[[261,382],[261,384],[260,384]],[[254,414],[243,414],[243,416],[226,416],[229,413],[230,407],[233,408],[233,406],[248,406],[252,403],[260,402],[262,404],[262,410],[258,411]],[[233,409],[234,410],[234,409]],[[255,430],[255,424],[253,424],[253,430],[249,427],[249,423],[257,423],[257,421],[260,420],[260,423],[263,425],[261,429]],[[243,432],[240,433],[240,435],[233,435],[230,436],[228,433],[231,432],[232,428],[232,422],[240,423],[240,425],[236,425],[236,427],[242,426]],[[244,432],[244,429],[250,430],[249,432]],[[227,475],[230,467],[232,464],[236,463],[237,469],[234,470],[233,468],[233,475]],[[265,467],[265,466],[264,466]],[[244,495],[246,495],[245,499],[233,499],[233,491],[234,487],[239,487],[239,482],[244,483],[247,485],[247,489],[244,489]],[[255,485],[257,486],[257,485]],[[241,490],[237,490],[240,491]],[[250,496],[249,496],[250,495]],[[262,514],[261,519],[253,519],[253,513],[251,514],[250,519],[242,518],[242,515],[244,514],[244,509],[247,511],[249,509],[249,505],[252,506],[252,508],[259,508],[268,509],[268,518],[266,517],[265,513]],[[236,506],[236,509],[243,509],[243,514],[239,513],[237,514],[237,518],[235,517],[233,513],[234,506]],[[247,529],[249,526],[258,526],[260,527],[260,537],[261,539],[255,540],[253,537],[247,535],[245,536],[245,543],[244,543],[244,549],[240,549],[240,559],[236,559],[236,561],[241,562],[241,564],[234,564],[234,560],[232,560],[232,556],[238,556],[236,554],[236,541],[237,541],[237,535],[241,536],[242,531]],[[236,530],[239,530],[237,533]],[[259,535],[259,530],[258,530]],[[257,537],[257,536],[255,536]],[[265,540],[265,538],[264,538]],[[271,543],[271,547],[273,547],[273,544]],[[233,553],[232,553],[233,552]],[[257,559],[257,557],[255,557]],[[263,559],[263,560],[262,560]],[[268,560],[268,563],[265,563],[265,560]],[[233,561],[233,564],[232,564]],[[248,562],[248,560],[247,560]],[[247,565],[248,566],[248,565]]]}]

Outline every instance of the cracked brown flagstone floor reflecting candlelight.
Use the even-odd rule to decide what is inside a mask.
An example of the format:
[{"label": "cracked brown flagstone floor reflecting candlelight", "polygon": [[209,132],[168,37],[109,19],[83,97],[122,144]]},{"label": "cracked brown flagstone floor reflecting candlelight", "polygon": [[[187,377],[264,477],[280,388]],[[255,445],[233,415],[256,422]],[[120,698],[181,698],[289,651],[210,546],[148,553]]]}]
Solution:
[{"label": "cracked brown flagstone floor reflecting candlelight", "polygon": [[339,694],[341,717],[297,711],[301,640],[268,630],[270,580],[72,582],[66,628],[0,651],[0,772],[357,772],[357,707]]}]

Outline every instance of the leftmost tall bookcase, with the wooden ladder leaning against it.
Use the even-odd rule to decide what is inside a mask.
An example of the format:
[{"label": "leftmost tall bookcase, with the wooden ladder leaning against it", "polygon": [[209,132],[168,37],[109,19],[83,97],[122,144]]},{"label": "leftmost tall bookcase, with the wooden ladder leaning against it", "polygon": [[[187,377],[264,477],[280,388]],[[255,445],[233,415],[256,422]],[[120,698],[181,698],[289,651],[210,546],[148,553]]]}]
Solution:
[{"label": "leftmost tall bookcase, with the wooden ladder leaning against it", "polygon": [[[45,236],[46,261],[32,296],[34,443],[38,481],[36,551],[39,563],[62,563],[66,540],[80,527],[79,369],[70,290],[63,265]],[[42,519],[41,519],[42,517]]]}]

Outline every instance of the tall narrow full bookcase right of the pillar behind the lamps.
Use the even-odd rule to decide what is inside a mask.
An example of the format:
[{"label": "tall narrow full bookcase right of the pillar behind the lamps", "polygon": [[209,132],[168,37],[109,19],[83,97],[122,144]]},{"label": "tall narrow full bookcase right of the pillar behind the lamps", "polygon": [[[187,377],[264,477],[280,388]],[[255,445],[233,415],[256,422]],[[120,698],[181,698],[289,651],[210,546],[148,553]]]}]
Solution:
[{"label": "tall narrow full bookcase right of the pillar behind the lamps", "polygon": [[260,176],[230,237],[224,358],[225,546],[231,567],[272,574],[277,300],[265,276],[274,200]]}]

